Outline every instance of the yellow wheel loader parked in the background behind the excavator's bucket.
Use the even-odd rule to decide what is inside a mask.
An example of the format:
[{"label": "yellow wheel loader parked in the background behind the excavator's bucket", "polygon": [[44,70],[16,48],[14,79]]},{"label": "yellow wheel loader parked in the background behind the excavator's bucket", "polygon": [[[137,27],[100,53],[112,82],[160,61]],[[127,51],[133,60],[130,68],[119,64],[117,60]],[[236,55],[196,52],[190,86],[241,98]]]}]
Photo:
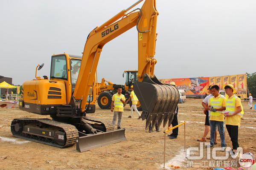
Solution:
[{"label": "yellow wheel loader parked in the background behind the excavator's bucket", "polygon": [[[117,85],[113,82],[105,80],[105,78],[102,78],[102,82],[97,83],[97,102],[101,109],[110,109],[111,108],[111,100],[112,96],[117,93],[117,88],[122,88],[122,94],[125,95],[125,99],[127,100],[130,97],[131,91],[131,85],[134,85],[134,82],[138,81],[137,74],[138,71],[124,71],[124,74],[126,74],[125,78],[125,85]],[[107,84],[108,83],[108,84]],[[129,102],[129,105],[131,107],[132,102]],[[138,111],[142,111],[140,101],[137,103],[137,109]]]}]

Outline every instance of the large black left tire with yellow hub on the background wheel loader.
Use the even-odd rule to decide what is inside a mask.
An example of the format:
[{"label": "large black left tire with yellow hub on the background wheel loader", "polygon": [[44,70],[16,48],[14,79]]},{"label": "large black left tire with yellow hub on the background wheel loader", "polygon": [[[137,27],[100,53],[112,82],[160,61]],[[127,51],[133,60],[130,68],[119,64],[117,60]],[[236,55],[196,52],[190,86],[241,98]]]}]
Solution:
[{"label": "large black left tire with yellow hub on the background wheel loader", "polygon": [[102,92],[98,99],[98,105],[101,109],[110,109],[113,93],[111,91]]}]

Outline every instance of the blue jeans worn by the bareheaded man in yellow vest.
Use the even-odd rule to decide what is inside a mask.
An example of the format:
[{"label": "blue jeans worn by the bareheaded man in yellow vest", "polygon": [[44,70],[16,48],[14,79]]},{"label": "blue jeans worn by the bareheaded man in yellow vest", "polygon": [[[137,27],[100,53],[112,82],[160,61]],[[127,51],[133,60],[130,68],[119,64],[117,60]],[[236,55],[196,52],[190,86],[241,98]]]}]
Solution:
[{"label": "blue jeans worn by the bareheaded man in yellow vest", "polygon": [[214,144],[214,136],[215,136],[215,131],[216,127],[218,126],[218,131],[221,136],[221,147],[225,147],[225,136],[224,136],[224,122],[219,122],[215,120],[210,120],[210,128],[211,128],[211,145],[213,146]]}]

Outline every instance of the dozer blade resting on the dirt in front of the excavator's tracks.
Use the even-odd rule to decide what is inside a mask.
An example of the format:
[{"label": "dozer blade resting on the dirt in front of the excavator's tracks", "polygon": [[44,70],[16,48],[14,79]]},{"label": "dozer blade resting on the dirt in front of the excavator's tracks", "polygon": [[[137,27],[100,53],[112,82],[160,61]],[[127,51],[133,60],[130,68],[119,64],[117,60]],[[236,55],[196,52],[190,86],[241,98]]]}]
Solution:
[{"label": "dozer blade resting on the dirt in front of the excavator's tracks", "polygon": [[76,140],[76,150],[85,152],[87,150],[125,140],[125,129],[89,134],[87,136],[81,136]]}]

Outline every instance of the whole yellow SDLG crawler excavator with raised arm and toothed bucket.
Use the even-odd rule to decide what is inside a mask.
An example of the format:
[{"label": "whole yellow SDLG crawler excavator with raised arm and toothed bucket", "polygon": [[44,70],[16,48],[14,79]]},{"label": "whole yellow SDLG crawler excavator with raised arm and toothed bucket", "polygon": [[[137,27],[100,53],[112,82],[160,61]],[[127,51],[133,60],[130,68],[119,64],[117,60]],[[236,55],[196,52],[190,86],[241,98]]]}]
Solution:
[{"label": "whole yellow SDLG crawler excavator with raised arm and toothed bucket", "polygon": [[[179,100],[175,86],[162,84],[154,75],[157,15],[156,0],[143,0],[120,11],[94,28],[87,37],[82,57],[68,54],[52,56],[50,77],[23,83],[20,109],[52,119],[17,118],[11,131],[16,137],[55,147],[76,143],[79,152],[125,140],[125,129],[114,130],[108,120],[88,116],[95,74],[103,46],[136,26],[138,31],[138,82],[134,92],[142,107],[146,129],[152,123],[163,126],[172,122]],[[43,65],[38,66],[40,70]],[[92,96],[92,97],[91,97]]]}]

